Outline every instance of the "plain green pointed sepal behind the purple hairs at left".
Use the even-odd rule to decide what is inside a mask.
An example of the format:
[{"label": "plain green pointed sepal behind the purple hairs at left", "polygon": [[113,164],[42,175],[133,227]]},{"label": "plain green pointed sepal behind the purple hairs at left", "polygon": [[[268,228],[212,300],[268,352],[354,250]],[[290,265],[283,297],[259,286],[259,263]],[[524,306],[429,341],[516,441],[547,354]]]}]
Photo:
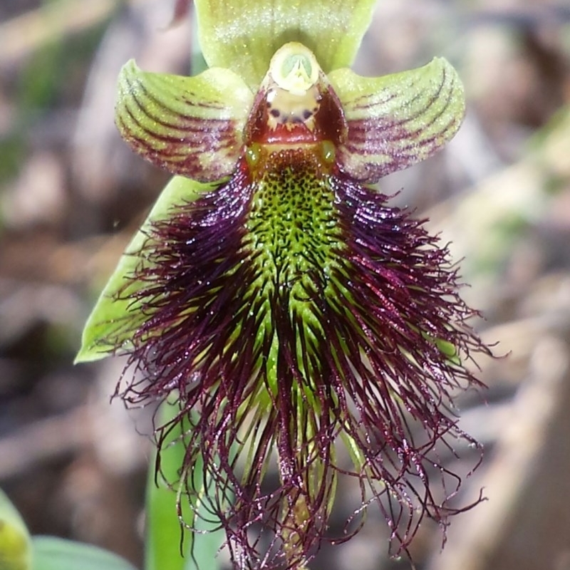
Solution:
[{"label": "plain green pointed sepal behind the purple hairs at left", "polygon": [[129,279],[140,264],[145,263],[139,255],[147,240],[152,220],[167,219],[172,207],[192,202],[199,195],[211,189],[211,185],[200,184],[183,177],[174,177],[162,190],[155,206],[125,253],[100,294],[93,311],[83,328],[81,349],[75,363],[98,361],[105,356],[123,353],[130,348],[133,330],[146,320],[147,314],[138,310],[136,293],[145,286],[142,281]]}]

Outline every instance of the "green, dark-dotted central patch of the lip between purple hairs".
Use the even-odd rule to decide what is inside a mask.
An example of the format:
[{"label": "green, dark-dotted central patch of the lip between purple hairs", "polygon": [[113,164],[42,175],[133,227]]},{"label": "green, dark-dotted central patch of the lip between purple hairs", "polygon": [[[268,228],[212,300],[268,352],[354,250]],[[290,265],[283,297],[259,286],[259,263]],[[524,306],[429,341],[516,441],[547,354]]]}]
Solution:
[{"label": "green, dark-dotted central patch of the lip between purple hairs", "polygon": [[[249,162],[254,192],[248,247],[267,299],[285,296],[289,314],[318,325],[314,302],[327,294],[343,249],[331,185],[331,145],[261,146]],[[309,322],[306,322],[309,324]]]}]

